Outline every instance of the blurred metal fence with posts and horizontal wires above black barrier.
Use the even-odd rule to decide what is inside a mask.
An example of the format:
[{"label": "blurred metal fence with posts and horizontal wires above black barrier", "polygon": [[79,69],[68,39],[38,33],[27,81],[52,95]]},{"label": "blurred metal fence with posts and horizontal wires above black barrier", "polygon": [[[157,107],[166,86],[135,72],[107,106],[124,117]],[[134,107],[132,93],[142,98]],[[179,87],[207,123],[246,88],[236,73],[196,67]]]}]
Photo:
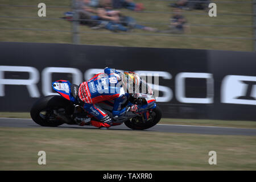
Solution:
[{"label": "blurred metal fence with posts and horizontal wires above black barrier", "polygon": [[[168,1],[168,2],[176,2],[175,0],[148,0],[152,2],[160,2],[160,1]],[[190,1],[190,2],[200,2],[201,1]],[[189,26],[191,27],[230,27],[230,28],[253,28],[254,36],[253,37],[237,37],[237,36],[201,36],[201,35],[186,35],[186,34],[164,34],[164,33],[134,33],[134,32],[118,32],[118,35],[142,35],[142,36],[175,36],[175,37],[185,37],[185,38],[210,38],[210,39],[240,39],[240,40],[253,40],[254,41],[254,51],[256,51],[256,0],[254,1],[211,1],[214,3],[227,3],[227,4],[251,4],[253,13],[218,13],[218,16],[249,16],[253,17],[253,24],[246,24],[246,25],[240,25],[240,24],[200,24],[200,23],[189,23]],[[203,3],[209,3],[209,2],[203,2]],[[0,7],[35,7],[37,6],[33,5],[3,5],[0,4]],[[71,8],[73,12],[75,12],[72,19],[72,30],[55,30],[55,29],[44,29],[44,28],[22,28],[22,27],[4,27],[0,25],[0,30],[31,30],[31,31],[53,31],[53,32],[71,32],[72,34],[72,42],[73,44],[79,44],[80,43],[80,36],[82,34],[117,34],[115,32],[110,31],[80,31],[80,20],[79,14],[77,13],[77,3],[76,0],[71,0],[71,6],[47,6],[47,8]],[[122,12],[126,12],[129,10],[122,10]],[[134,11],[134,13],[148,13],[148,14],[174,14],[170,11]],[[183,12],[181,14],[184,15],[208,15],[207,12],[204,13],[195,13],[191,11]],[[0,12],[0,18],[6,18],[6,19],[42,19],[38,16],[6,16],[1,15]],[[63,20],[63,18],[46,18],[43,19],[46,20]],[[88,20],[89,21],[89,20]],[[97,21],[97,20],[93,20]],[[127,23],[127,22],[126,22]],[[137,22],[139,24],[158,24],[158,25],[168,25],[170,23],[161,23],[161,22]]]}]

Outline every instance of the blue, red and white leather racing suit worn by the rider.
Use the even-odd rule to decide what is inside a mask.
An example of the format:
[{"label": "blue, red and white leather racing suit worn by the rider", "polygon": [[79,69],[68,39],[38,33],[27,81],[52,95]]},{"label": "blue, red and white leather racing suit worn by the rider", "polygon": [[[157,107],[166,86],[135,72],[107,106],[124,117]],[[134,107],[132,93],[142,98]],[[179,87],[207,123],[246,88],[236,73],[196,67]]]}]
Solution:
[{"label": "blue, red and white leather racing suit worn by the rider", "polygon": [[[79,98],[84,102],[84,109],[97,121],[91,121],[93,126],[96,127],[110,127],[112,119],[96,104],[99,102],[106,102],[112,105],[113,116],[120,116],[126,112],[126,108],[119,110],[121,103],[124,99],[129,97],[128,93],[122,88],[121,72],[115,69],[105,68],[104,73],[98,73],[90,80],[82,82],[79,86]],[[113,102],[109,102],[112,101]]]}]

